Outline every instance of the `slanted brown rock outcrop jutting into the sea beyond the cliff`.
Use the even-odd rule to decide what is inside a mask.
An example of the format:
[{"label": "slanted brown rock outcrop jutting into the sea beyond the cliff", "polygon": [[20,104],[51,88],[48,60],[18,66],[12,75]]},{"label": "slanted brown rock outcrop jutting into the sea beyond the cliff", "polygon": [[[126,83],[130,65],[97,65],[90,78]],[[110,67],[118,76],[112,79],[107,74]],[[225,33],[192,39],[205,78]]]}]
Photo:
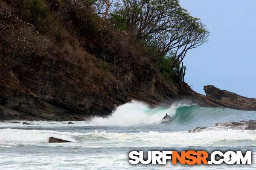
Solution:
[{"label": "slanted brown rock outcrop jutting into the sea beyond the cliff", "polygon": [[256,111],[256,99],[220,90],[213,85],[204,86],[204,91],[206,96],[193,92],[193,101],[200,106]]}]

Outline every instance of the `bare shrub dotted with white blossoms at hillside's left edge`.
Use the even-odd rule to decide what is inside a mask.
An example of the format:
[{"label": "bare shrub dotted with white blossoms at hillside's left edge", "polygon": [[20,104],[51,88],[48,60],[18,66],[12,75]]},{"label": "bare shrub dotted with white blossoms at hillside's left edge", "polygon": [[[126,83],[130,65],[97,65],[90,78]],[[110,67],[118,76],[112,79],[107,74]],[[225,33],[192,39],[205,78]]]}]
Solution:
[{"label": "bare shrub dotted with white blossoms at hillside's left edge", "polygon": [[35,28],[15,17],[11,12],[0,11],[0,79],[7,71],[23,61],[47,55],[49,41]]}]

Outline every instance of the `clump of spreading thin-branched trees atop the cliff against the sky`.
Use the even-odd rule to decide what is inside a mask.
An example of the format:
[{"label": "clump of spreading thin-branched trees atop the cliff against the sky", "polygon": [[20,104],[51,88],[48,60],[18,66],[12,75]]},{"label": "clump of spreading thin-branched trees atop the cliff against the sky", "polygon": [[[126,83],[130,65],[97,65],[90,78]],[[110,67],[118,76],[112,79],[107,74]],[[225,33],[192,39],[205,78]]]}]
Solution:
[{"label": "clump of spreading thin-branched trees atop the cliff against the sky", "polygon": [[174,72],[183,68],[187,51],[204,44],[209,37],[201,20],[190,16],[178,0],[122,0],[116,13],[125,18],[135,38],[157,50],[156,55],[150,55],[152,61],[169,61]]}]

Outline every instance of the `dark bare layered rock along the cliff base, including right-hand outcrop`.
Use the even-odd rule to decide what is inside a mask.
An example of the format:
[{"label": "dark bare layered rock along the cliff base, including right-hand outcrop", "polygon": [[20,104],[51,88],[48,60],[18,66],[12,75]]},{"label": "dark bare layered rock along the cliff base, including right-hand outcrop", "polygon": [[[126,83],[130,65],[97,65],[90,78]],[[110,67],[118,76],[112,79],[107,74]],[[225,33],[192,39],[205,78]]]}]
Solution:
[{"label": "dark bare layered rock along the cliff base, including right-hand outcrop", "polygon": [[[25,91],[17,87],[0,86],[1,120],[86,120],[91,116],[108,116],[116,106],[134,99],[146,102],[152,107],[168,107],[174,101],[186,99],[186,101],[205,107],[256,110],[256,99],[249,99],[220,90],[212,85],[204,86],[206,96],[196,92],[193,92],[193,95],[172,94],[170,89],[156,86],[154,93],[159,93],[159,96],[156,97],[154,93],[149,94],[143,85],[134,87],[128,86],[128,84],[125,84],[122,90],[116,86],[111,87],[113,89],[109,89],[108,95],[103,95],[103,93],[92,95],[88,94],[88,91],[80,91],[77,88],[73,90],[65,88],[66,86],[69,87],[70,84],[65,85],[67,82],[62,82],[57,77],[55,77],[56,83],[61,85],[49,85],[50,82],[35,81],[33,80],[35,77],[32,77],[31,74],[28,76],[18,77],[20,81],[26,84],[27,89]],[[144,79],[144,81],[146,80]],[[152,80],[148,80],[148,85],[151,83]],[[169,96],[166,95],[163,98],[161,92],[163,93],[165,90],[169,91],[167,93]]]}]

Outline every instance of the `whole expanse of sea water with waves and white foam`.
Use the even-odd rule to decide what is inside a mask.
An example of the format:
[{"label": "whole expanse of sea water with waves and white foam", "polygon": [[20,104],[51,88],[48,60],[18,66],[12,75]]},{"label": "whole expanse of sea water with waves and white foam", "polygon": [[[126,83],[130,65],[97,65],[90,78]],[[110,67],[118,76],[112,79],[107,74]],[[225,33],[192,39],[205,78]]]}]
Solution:
[{"label": "whole expanse of sea water with waves and white foam", "polygon": [[[161,123],[168,113],[172,122]],[[255,120],[256,111],[204,108],[175,103],[169,108],[151,109],[142,102],[119,106],[108,118],[90,121],[47,122],[35,125],[0,122],[1,170],[255,170],[256,131],[212,128],[188,133],[198,126],[215,123]],[[29,122],[29,121],[26,121]],[[37,125],[38,124],[38,125]],[[48,143],[49,137],[72,143]],[[132,150],[242,150],[253,151],[251,165],[131,165]]]}]

